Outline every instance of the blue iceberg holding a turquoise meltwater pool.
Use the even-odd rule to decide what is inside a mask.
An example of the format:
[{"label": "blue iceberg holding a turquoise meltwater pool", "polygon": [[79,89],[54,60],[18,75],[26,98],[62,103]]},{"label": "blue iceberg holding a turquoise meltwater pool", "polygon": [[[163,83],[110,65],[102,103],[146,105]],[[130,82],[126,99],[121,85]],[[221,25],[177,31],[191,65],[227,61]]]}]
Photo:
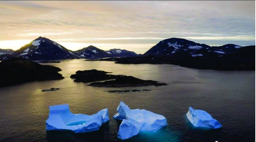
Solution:
[{"label": "blue iceberg holding a turquoise meltwater pool", "polygon": [[49,109],[46,130],[71,130],[75,133],[83,133],[96,131],[109,121],[107,108],[93,115],[72,114],[68,104],[50,106]]}]

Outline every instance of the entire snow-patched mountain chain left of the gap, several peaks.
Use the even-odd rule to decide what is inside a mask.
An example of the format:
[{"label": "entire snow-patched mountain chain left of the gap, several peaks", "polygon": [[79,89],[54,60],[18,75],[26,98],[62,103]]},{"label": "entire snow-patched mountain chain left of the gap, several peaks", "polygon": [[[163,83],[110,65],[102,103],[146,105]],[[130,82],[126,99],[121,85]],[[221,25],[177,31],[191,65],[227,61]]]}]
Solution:
[{"label": "entire snow-patched mountain chain left of the gap, several peaks", "polygon": [[0,60],[7,60],[13,57],[20,57],[29,60],[58,60],[58,59],[99,59],[110,57],[129,57],[138,54],[121,49],[101,50],[95,46],[88,46],[77,51],[71,51],[57,42],[39,37],[20,49],[0,49]]}]

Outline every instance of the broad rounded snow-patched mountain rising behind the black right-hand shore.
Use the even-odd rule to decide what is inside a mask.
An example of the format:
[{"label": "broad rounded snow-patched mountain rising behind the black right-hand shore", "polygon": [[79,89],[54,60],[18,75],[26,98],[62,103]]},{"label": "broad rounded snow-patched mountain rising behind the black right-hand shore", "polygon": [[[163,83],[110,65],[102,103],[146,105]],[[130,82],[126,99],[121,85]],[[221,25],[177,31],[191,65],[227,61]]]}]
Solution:
[{"label": "broad rounded snow-patched mountain rising behind the black right-hand shore", "polygon": [[186,39],[171,38],[160,41],[143,55],[165,56],[170,58],[191,58],[198,56],[221,57],[235,54],[242,48],[242,46],[233,44],[209,46]]}]

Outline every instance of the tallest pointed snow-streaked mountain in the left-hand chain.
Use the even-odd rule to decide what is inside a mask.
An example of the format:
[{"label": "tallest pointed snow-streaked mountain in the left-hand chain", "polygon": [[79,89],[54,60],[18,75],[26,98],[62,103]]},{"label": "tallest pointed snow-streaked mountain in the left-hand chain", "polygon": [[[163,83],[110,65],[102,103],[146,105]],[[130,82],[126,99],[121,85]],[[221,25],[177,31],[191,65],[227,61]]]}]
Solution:
[{"label": "tallest pointed snow-streaked mountain in the left-hand chain", "polygon": [[79,58],[71,50],[47,38],[39,37],[16,50],[12,55],[30,60],[57,60]]}]

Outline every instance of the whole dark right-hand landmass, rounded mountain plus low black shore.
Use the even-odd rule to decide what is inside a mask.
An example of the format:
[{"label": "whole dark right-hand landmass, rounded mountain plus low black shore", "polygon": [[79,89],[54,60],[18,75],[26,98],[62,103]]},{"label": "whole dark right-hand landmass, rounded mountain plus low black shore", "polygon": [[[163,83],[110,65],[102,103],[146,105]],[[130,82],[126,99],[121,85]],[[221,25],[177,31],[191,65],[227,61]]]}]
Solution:
[{"label": "whole dark right-hand landmass, rounded mountain plus low black shore", "polygon": [[102,60],[123,64],[172,64],[197,69],[255,70],[255,46],[209,46],[171,38],[160,41],[141,56]]}]

